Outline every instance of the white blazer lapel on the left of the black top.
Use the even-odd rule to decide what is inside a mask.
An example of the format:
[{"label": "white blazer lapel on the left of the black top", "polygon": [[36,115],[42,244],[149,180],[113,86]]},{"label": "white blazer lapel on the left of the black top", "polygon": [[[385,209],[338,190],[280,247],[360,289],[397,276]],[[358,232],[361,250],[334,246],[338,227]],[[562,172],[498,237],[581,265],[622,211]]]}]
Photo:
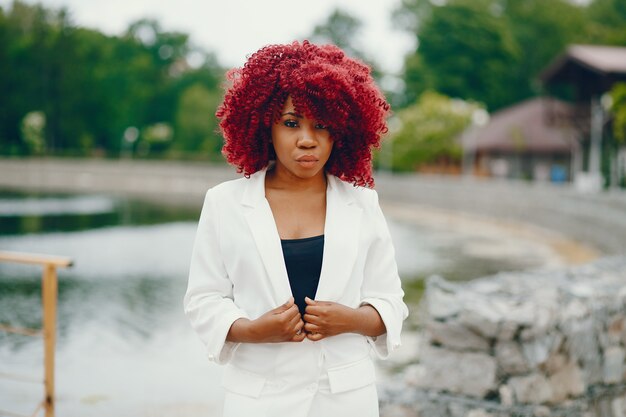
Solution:
[{"label": "white blazer lapel on the left of the black top", "polygon": [[246,221],[274,290],[275,302],[280,305],[291,296],[291,287],[276,222],[265,198],[265,172],[250,177],[241,203],[248,207]]}]

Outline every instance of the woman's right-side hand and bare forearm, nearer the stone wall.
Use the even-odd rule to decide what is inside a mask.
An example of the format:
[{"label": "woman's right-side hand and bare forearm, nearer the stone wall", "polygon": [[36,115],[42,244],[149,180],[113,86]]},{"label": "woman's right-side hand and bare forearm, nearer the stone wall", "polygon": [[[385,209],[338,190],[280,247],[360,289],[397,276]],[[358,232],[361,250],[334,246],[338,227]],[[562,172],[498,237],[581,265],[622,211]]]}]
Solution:
[{"label": "woman's right-side hand and bare forearm, nearer the stone wall", "polygon": [[386,328],[378,311],[371,305],[351,308],[332,301],[304,299],[304,330],[309,340],[318,341],[341,333],[380,336]]}]

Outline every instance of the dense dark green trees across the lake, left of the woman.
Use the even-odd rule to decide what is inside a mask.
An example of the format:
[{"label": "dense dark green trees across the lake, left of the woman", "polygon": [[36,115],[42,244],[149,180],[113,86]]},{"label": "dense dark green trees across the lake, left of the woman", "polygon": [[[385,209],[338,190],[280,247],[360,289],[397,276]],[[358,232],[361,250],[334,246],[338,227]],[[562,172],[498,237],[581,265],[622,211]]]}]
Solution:
[{"label": "dense dark green trees across the lake, left of the woman", "polygon": [[[65,10],[15,1],[0,9],[0,153],[33,152],[21,125],[32,112],[45,116],[46,150],[61,154],[116,155],[128,127],[150,135],[163,131],[151,127],[174,126],[190,85],[214,95],[220,89],[223,69],[202,51],[204,63],[192,68],[191,52],[199,53],[188,35],[164,31],[154,20],[106,36],[76,27]],[[205,116],[214,119],[216,100],[211,105]]]}]

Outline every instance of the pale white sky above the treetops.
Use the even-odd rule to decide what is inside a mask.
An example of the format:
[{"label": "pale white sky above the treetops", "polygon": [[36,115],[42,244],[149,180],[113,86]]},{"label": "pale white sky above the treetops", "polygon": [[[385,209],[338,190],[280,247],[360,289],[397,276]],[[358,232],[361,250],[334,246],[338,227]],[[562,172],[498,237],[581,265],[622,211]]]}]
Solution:
[{"label": "pale white sky above the treetops", "polygon": [[[0,0],[8,9],[12,0]],[[359,18],[357,47],[394,74],[414,48],[408,33],[393,28],[391,11],[399,0],[26,0],[46,8],[65,7],[73,22],[110,35],[122,33],[141,18],[156,19],[163,30],[190,35],[191,43],[214,52],[227,67],[240,66],[264,45],[303,39],[337,7]]]}]

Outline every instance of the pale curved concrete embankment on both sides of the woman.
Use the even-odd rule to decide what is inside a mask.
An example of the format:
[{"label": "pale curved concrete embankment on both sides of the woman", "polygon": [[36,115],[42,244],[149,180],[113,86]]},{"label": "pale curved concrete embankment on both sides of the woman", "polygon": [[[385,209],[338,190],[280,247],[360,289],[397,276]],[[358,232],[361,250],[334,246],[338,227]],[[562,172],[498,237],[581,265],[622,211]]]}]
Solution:
[{"label": "pale curved concrete embankment on both sides of the woman", "polygon": [[[0,159],[0,188],[114,193],[200,206],[208,187],[236,178],[204,162],[102,159]],[[376,177],[387,205],[530,224],[601,254],[626,254],[626,192],[582,194],[569,185],[424,175]],[[421,213],[421,214],[420,214]]]}]

